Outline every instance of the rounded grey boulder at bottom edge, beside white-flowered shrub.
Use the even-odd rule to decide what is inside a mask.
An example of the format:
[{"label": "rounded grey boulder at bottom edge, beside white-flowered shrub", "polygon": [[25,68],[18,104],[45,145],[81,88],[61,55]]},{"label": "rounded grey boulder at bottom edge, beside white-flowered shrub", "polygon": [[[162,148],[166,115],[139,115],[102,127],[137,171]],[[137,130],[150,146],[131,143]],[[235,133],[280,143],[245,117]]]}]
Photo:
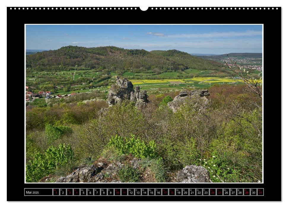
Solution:
[{"label": "rounded grey boulder at bottom edge, beside white-flowered shrub", "polygon": [[206,168],[202,166],[186,166],[177,173],[177,182],[180,183],[212,183]]}]

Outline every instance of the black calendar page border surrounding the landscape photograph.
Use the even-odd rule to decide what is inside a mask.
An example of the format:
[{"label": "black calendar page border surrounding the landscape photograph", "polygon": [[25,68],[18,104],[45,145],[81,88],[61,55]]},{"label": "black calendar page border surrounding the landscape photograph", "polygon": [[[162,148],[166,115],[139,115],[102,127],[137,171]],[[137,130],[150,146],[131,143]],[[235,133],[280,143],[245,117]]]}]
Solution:
[{"label": "black calendar page border surrounding the landscape photograph", "polygon": [[[24,24],[264,24],[264,46],[263,63],[266,71],[280,70],[281,68],[281,7],[262,7],[258,9],[243,10],[243,7],[233,7],[230,10],[220,7],[160,7],[156,10],[149,8],[141,11],[139,7],[131,7],[122,10],[110,10],[110,7],[102,7],[99,10],[89,10],[89,7],[78,7],[79,9],[64,10],[24,10],[23,7],[7,7],[7,63],[13,62],[13,67],[19,69],[19,76],[15,78],[15,83],[10,91],[16,92],[23,88],[24,70]],[[51,7],[50,7],[51,8]],[[93,7],[92,7],[93,8]],[[199,9],[197,9],[199,8]],[[203,9],[202,9],[203,8]],[[206,9],[207,8],[207,9]],[[114,16],[120,18],[114,18]],[[15,41],[15,38],[17,41]],[[15,48],[18,53],[15,53]],[[21,53],[23,51],[23,53]],[[15,62],[15,60],[18,60]],[[268,73],[267,73],[268,74]],[[269,75],[269,74],[268,74]],[[9,76],[9,70],[7,71]],[[13,88],[13,89],[12,89]],[[264,85],[264,184],[243,184],[243,183],[209,183],[209,184],[183,184],[183,183],[89,183],[89,184],[69,184],[69,183],[24,183],[25,180],[25,160],[24,160],[24,106],[22,98],[7,105],[7,112],[13,112],[13,126],[17,126],[14,134],[7,137],[7,201],[281,201],[281,168],[276,170],[271,168],[271,159],[281,158],[281,89],[277,89],[279,101],[276,101],[275,88]],[[271,111],[273,109],[273,111]],[[15,115],[19,119],[15,119]],[[279,115],[279,116],[278,116]],[[7,116],[7,123],[9,121]],[[278,116],[278,118],[275,118]],[[270,120],[269,117],[273,118]],[[21,128],[22,126],[22,128]],[[15,144],[15,139],[19,141]],[[268,151],[269,150],[269,151]],[[17,159],[17,167],[15,166]],[[280,163],[279,163],[280,164]],[[277,171],[277,173],[275,172]],[[276,176],[277,174],[277,176]],[[264,188],[264,196],[24,196],[24,188]]]}]

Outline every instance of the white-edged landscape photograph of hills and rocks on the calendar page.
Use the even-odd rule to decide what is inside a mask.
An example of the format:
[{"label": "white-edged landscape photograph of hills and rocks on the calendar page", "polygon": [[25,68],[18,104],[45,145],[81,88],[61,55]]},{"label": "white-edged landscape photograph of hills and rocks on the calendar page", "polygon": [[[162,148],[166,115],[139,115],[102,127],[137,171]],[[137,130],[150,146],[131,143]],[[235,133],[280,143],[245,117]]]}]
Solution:
[{"label": "white-edged landscape photograph of hills and rocks on the calendar page", "polygon": [[25,25],[26,183],[263,183],[262,25]]}]

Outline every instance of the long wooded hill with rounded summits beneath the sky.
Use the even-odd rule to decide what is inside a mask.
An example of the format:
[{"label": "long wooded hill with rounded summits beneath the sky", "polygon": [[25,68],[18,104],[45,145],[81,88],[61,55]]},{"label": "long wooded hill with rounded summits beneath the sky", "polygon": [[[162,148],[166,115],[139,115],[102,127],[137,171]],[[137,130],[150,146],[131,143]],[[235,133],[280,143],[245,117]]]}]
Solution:
[{"label": "long wooded hill with rounded summits beneath the sky", "polygon": [[96,71],[106,69],[121,74],[153,69],[161,72],[183,71],[189,68],[220,70],[223,64],[177,50],[149,52],[143,49],[124,49],[114,46],[97,48],[65,46],[54,51],[43,51],[26,56],[28,70],[73,70],[75,66]]}]

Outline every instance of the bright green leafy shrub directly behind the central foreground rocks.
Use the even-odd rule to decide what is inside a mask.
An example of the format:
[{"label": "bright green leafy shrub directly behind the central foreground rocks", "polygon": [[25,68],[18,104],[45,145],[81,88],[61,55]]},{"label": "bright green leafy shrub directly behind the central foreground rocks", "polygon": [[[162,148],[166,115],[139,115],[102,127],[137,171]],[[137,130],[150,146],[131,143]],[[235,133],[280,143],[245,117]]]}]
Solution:
[{"label": "bright green leafy shrub directly behind the central foreground rocks", "polygon": [[114,146],[119,150],[120,154],[132,154],[135,157],[140,158],[154,158],[157,155],[154,140],[151,140],[148,144],[145,144],[145,142],[141,141],[139,137],[135,138],[135,135],[131,135],[131,137],[128,138],[123,138],[116,135],[110,139],[107,146]]}]

